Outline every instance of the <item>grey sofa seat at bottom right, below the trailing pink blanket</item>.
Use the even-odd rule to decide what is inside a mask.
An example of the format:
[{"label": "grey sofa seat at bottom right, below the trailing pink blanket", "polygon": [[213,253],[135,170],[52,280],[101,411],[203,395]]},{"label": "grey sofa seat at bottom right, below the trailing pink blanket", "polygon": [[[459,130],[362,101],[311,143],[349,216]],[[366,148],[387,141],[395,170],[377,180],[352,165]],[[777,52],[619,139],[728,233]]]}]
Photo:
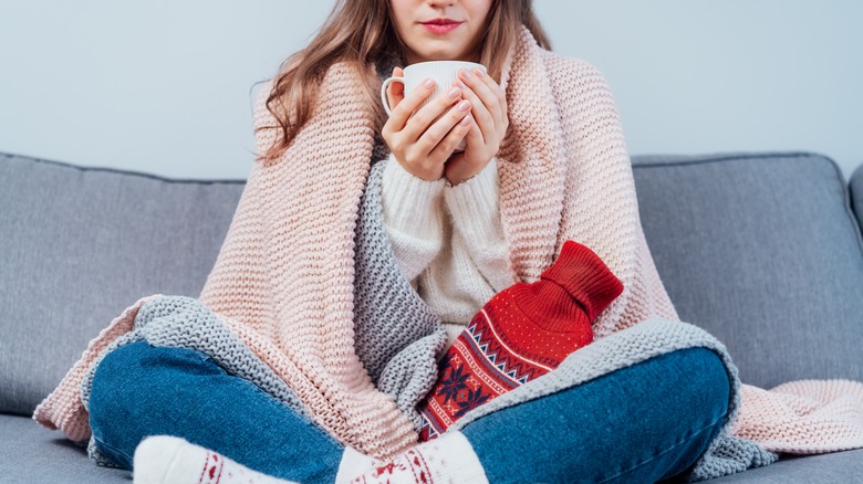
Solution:
[{"label": "grey sofa seat at bottom right, below the trailing pink blanket", "polygon": [[863,484],[863,449],[832,454],[783,456],[767,467],[707,481],[710,484]]}]

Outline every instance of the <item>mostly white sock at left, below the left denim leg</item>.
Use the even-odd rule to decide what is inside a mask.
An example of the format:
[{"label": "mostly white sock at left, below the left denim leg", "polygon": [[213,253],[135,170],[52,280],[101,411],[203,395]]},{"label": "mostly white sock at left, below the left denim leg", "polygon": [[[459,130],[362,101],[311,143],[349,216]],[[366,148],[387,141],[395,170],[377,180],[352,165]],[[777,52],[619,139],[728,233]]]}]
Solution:
[{"label": "mostly white sock at left, below the left denim leg", "polygon": [[135,484],[291,484],[176,436],[144,439],[135,449]]}]

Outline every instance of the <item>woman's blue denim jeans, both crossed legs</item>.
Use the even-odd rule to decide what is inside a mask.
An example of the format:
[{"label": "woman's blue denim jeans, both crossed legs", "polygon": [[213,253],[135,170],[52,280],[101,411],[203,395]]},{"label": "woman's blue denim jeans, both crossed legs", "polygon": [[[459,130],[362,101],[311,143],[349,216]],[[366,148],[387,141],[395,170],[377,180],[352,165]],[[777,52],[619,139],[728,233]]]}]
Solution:
[{"label": "woman's blue denim jeans, both crossed legs", "polygon": [[[719,432],[729,382],[710,350],[684,349],[482,417],[462,430],[491,483],[655,482],[685,472]],[[147,435],[183,436],[251,469],[332,483],[344,448],[208,356],[134,343],[96,369],[90,424],[131,469]]]}]

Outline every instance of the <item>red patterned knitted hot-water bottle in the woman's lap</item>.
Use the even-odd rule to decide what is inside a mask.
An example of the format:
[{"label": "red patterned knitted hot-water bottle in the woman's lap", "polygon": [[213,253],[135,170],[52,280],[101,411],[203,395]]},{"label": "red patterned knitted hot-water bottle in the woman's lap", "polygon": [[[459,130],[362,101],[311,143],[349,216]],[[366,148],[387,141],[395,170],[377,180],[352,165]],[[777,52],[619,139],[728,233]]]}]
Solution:
[{"label": "red patterned knitted hot-water bottle in the woman's lap", "polygon": [[593,340],[591,324],[622,292],[593,251],[566,241],[539,281],[501,291],[455,340],[418,406],[419,439],[435,439],[468,411],[557,368]]}]

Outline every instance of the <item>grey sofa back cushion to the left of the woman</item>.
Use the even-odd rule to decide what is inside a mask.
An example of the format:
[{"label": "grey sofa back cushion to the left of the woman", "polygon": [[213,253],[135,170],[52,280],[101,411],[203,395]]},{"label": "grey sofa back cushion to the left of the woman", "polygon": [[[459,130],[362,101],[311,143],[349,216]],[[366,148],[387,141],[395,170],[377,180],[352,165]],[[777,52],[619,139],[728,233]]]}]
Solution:
[{"label": "grey sofa back cushion to the left of the woman", "polygon": [[139,297],[197,296],[242,188],[0,154],[0,412],[32,413]]}]

